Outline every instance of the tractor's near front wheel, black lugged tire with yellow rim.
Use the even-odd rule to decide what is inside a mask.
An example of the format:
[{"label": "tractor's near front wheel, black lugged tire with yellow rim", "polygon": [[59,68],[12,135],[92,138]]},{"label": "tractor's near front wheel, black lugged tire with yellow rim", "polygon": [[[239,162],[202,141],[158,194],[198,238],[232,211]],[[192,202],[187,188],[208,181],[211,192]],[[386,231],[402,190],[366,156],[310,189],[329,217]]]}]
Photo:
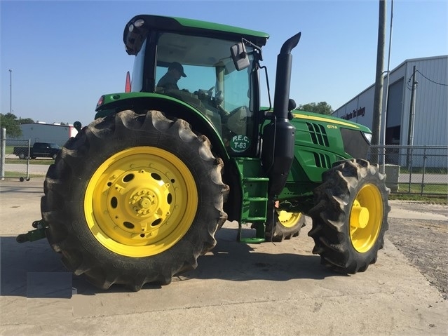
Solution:
[{"label": "tractor's near front wheel, black lugged tire with yellow rim", "polygon": [[326,267],[355,274],[376,262],[388,229],[385,177],[378,165],[361,159],[340,161],[323,173],[323,184],[314,191],[308,236]]}]

